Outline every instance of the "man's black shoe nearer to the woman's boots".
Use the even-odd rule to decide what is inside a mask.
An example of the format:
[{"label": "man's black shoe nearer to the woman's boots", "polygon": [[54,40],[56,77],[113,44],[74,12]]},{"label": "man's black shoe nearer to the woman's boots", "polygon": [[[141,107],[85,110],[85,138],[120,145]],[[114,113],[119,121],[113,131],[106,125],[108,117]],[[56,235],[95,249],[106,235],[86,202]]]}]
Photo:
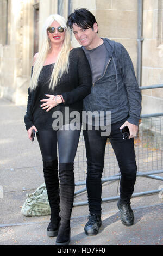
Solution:
[{"label": "man's black shoe nearer to the woman's boots", "polygon": [[97,235],[98,228],[101,226],[101,215],[89,214],[89,221],[84,227],[86,235]]}]

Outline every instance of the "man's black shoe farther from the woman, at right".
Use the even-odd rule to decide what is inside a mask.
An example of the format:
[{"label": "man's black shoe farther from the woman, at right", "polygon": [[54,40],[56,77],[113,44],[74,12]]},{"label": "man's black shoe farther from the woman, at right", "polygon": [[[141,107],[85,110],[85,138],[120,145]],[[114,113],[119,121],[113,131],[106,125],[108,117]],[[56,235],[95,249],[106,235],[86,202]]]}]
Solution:
[{"label": "man's black shoe farther from the woman, at right", "polygon": [[130,203],[120,204],[118,201],[118,209],[121,214],[121,221],[126,226],[131,226],[134,224],[134,212],[131,209]]}]

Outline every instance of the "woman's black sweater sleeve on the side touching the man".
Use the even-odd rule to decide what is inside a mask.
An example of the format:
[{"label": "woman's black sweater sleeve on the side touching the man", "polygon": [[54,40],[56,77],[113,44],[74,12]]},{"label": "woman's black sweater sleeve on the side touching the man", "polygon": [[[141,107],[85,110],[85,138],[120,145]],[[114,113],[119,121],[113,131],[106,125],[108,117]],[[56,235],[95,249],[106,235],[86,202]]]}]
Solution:
[{"label": "woman's black sweater sleeve on the side touching the man", "polygon": [[[74,58],[78,58],[77,71],[78,71],[78,85],[70,92],[62,93],[65,104],[72,104],[77,101],[83,100],[91,93],[92,75],[89,62],[86,58],[85,52],[82,48],[76,49]],[[75,75],[75,74],[73,74]]]}]

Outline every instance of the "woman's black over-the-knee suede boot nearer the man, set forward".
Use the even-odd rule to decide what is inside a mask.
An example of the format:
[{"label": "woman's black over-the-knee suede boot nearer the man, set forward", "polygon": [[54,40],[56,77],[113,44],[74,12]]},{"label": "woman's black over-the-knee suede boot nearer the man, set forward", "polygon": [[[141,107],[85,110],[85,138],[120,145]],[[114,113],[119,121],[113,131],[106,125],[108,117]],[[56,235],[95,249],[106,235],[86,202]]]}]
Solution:
[{"label": "woman's black over-the-knee suede boot nearer the man, set forward", "polygon": [[56,245],[69,245],[70,218],[74,199],[73,163],[59,163],[61,217]]}]

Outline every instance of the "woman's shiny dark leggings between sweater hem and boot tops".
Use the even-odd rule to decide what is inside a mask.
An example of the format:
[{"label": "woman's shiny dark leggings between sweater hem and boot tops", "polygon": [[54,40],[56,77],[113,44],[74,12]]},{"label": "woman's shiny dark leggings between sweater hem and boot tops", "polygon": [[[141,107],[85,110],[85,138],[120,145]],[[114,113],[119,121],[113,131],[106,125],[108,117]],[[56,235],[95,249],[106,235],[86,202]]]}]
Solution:
[{"label": "woman's shiny dark leggings between sweater hem and boot tops", "polygon": [[80,130],[71,130],[69,124],[66,126],[64,126],[66,130],[54,131],[49,129],[36,133],[44,161],[51,161],[57,158],[57,142],[59,163],[72,163],[74,161]]}]

